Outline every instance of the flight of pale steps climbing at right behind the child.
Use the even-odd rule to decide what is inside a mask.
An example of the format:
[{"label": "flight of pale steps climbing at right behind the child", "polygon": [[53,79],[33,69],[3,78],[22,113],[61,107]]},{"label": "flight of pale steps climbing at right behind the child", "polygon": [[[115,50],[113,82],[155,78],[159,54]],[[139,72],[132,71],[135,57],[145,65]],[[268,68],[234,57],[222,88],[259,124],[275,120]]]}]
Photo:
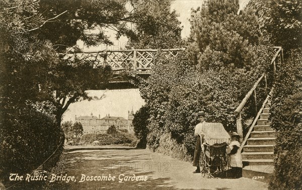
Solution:
[{"label": "flight of pale steps climbing at right behind the child", "polygon": [[[246,169],[259,172],[271,173],[273,170],[273,154],[276,132],[270,127],[268,121],[271,102],[268,100],[262,109],[260,117],[257,119],[257,125],[251,132],[247,145],[243,146],[242,161],[247,165]],[[254,168],[254,169],[252,169]]]}]

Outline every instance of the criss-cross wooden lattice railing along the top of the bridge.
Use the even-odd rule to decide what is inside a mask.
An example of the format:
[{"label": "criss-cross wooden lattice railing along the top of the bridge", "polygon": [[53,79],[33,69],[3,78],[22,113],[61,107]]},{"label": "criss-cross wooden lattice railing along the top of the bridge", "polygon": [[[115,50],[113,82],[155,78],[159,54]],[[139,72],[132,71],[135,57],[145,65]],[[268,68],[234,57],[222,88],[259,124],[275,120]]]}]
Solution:
[{"label": "criss-cross wooden lattice railing along the top of the bridge", "polygon": [[[166,57],[176,57],[185,48],[161,49]],[[134,70],[147,73],[154,66],[155,54],[158,49],[109,50],[67,54],[69,60],[90,60],[94,65],[109,65],[112,71]]]}]

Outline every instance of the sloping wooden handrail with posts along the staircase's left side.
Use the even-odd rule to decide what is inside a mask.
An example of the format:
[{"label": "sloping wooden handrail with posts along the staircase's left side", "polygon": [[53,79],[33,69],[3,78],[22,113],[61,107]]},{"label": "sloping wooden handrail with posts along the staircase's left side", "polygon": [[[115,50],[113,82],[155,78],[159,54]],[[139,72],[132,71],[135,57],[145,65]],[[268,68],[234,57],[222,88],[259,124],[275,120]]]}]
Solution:
[{"label": "sloping wooden handrail with posts along the staircase's left side", "polygon": [[[276,72],[276,59],[277,57],[280,58],[280,63],[283,61],[283,49],[280,46],[275,46],[275,49],[278,49],[277,52],[275,53],[274,57],[271,60],[270,65],[273,65],[273,73]],[[282,56],[282,59],[281,59]],[[256,88],[258,87],[259,83],[262,81],[262,79],[265,79],[265,91],[266,94],[267,93],[267,80],[266,80],[266,73],[264,72],[259,78],[258,80],[255,82],[255,84],[253,85],[253,87],[249,90],[249,92],[246,94],[245,98],[242,100],[242,102],[240,103],[240,105],[237,107],[237,109],[234,111],[234,115],[237,118],[236,120],[236,124],[237,124],[237,133],[240,135],[241,140],[243,139],[243,129],[242,129],[242,118],[241,118],[241,112],[242,109],[244,108],[245,104],[247,103],[247,101],[249,100],[249,98],[252,96],[252,93],[254,92],[254,98],[255,98],[255,109],[256,109],[256,113],[258,113],[258,109],[257,109],[257,98],[256,98]],[[255,118],[257,119],[257,118]],[[255,123],[255,122],[254,122]]]}]

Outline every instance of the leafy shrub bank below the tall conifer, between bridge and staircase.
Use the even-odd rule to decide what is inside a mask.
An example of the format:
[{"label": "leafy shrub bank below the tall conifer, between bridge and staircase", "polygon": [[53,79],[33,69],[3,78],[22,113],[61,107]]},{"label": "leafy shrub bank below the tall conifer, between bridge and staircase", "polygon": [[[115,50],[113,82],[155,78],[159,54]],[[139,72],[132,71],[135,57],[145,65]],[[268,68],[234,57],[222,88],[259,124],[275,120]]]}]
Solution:
[{"label": "leafy shrub bank below the tall conifer, between bridge and staircase", "polygon": [[168,132],[178,143],[185,144],[192,155],[194,127],[201,110],[207,113],[206,121],[220,122],[228,131],[236,130],[234,110],[270,63],[269,48],[257,46],[254,51],[257,56],[252,57],[249,70],[223,68],[200,72],[191,66],[185,52],[176,58],[157,57],[152,75],[140,85],[150,114],[148,145],[158,148],[161,136]]}]

